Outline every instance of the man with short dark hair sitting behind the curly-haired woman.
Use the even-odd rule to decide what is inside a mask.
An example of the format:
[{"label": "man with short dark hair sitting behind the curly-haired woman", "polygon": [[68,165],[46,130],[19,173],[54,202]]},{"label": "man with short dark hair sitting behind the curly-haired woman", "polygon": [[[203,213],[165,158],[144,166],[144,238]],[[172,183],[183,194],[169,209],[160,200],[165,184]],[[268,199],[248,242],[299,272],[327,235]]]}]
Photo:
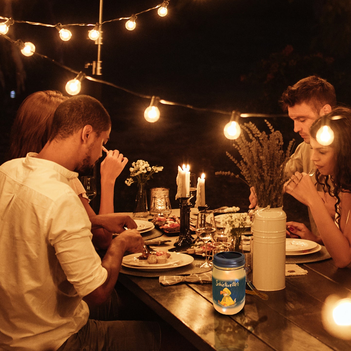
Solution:
[{"label": "man with short dark hair sitting behind the curly-haired woman", "polygon": [[[335,89],[325,79],[311,75],[287,87],[282,94],[280,104],[294,121],[294,132],[299,133],[304,139],[287,162],[285,174],[290,178],[295,172],[309,173],[315,167],[314,162],[311,161],[310,127],[316,119],[329,113],[336,106]],[[316,181],[314,176],[313,180]],[[256,206],[256,202],[254,189],[251,188],[250,208]],[[318,235],[310,209],[308,211],[311,230]]]}]

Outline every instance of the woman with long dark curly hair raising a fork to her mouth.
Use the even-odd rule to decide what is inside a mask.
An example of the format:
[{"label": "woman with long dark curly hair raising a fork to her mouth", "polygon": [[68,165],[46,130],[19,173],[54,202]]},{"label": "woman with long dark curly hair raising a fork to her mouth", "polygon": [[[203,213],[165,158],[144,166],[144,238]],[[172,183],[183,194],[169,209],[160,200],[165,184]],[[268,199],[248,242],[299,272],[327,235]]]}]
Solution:
[{"label": "woman with long dark curly hair raising a fork to her mouth", "polygon": [[[334,132],[334,140],[323,146],[316,134],[326,122]],[[311,177],[299,172],[286,183],[285,190],[311,208],[320,237],[301,223],[286,225],[297,237],[324,244],[335,265],[346,267],[351,263],[351,109],[335,108],[312,124],[310,134],[311,160],[324,192],[318,193]]]}]

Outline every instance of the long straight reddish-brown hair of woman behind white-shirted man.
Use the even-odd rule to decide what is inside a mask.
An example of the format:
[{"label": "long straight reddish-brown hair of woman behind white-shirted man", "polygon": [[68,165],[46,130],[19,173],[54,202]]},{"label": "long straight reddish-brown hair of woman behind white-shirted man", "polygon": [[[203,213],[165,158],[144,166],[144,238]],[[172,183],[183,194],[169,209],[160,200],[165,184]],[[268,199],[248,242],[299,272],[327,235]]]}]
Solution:
[{"label": "long straight reddish-brown hair of woman behind white-shirted man", "polygon": [[10,159],[41,151],[51,135],[54,112],[67,99],[54,90],[38,91],[26,97],[11,128]]}]

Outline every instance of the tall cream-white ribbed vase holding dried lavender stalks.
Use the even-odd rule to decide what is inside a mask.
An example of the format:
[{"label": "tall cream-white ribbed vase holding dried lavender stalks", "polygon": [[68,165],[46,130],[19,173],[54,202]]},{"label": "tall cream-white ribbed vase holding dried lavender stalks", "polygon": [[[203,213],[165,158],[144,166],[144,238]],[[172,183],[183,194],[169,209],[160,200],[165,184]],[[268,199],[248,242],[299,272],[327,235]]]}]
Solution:
[{"label": "tall cream-white ribbed vase holding dried lavender stalks", "polygon": [[286,214],[283,207],[266,208],[254,214],[252,280],[256,289],[285,288]]}]

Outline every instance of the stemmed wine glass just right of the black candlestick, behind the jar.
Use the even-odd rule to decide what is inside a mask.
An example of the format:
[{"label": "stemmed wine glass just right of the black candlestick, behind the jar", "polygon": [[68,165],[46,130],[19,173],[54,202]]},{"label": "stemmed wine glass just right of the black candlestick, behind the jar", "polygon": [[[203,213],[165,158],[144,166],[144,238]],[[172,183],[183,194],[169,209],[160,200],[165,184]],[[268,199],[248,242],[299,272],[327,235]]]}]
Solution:
[{"label": "stemmed wine glass just right of the black candlestick, behind the jar", "polygon": [[216,223],[214,221],[213,211],[199,211],[196,222],[196,235],[205,243],[205,262],[200,268],[211,268],[207,257],[207,243],[216,232]]}]

